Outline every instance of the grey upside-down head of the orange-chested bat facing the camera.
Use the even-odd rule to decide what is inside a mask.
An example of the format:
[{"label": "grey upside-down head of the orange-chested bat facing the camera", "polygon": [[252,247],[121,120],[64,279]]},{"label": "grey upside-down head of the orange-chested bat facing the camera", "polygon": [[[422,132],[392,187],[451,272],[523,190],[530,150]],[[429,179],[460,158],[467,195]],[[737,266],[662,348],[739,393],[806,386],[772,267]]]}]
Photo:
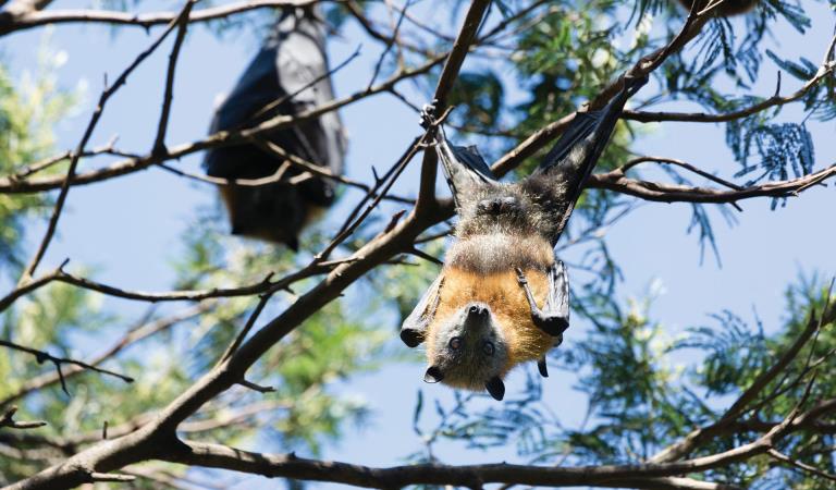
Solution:
[{"label": "grey upside-down head of the orange-chested bat facing the camera", "polygon": [[502,400],[502,382],[508,362],[508,347],[491,308],[469,303],[442,321],[428,339],[430,367],[423,377],[429,383],[479,391]]}]

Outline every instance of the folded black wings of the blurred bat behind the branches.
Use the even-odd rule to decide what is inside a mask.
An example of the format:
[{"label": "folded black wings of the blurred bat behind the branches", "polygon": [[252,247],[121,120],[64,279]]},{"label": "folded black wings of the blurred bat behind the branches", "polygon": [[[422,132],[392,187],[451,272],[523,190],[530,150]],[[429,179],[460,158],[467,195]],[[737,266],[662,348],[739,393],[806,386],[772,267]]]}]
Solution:
[{"label": "folded black wings of the blurred bat behind the branches", "polygon": [[[324,32],[310,11],[287,9],[262,49],[216,111],[210,133],[250,127],[276,114],[296,114],[333,99],[328,76]],[[275,103],[280,101],[280,103]],[[345,137],[335,112],[270,134],[267,139],[335,174],[343,172]],[[210,150],[207,173],[225,179],[272,175],[283,159],[255,145]],[[287,176],[298,173],[292,169]],[[309,179],[300,185],[306,200],[324,206],[333,200],[333,183]]]}]

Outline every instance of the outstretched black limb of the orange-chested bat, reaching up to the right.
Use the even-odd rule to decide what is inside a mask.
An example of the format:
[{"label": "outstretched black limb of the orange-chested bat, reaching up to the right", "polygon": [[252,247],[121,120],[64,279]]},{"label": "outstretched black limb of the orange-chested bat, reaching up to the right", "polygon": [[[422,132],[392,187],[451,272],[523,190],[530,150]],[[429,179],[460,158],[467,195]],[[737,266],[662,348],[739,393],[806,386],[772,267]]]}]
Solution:
[{"label": "outstretched black limb of the orange-chested bat, reaching up to the right", "polygon": [[644,78],[624,78],[622,90],[600,111],[578,113],[543,162],[528,177],[550,201],[552,243],[556,243],[583,191],[587,177],[601,158],[625,102],[647,83]]}]

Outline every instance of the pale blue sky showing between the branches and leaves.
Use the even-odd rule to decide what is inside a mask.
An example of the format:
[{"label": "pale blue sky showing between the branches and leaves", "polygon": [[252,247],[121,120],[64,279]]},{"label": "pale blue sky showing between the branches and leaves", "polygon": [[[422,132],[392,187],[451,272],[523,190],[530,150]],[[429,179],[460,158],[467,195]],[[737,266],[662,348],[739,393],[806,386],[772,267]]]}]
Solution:
[{"label": "pale blue sky showing between the branches and leaves", "polygon": [[[50,9],[83,7],[91,5],[84,1],[58,0]],[[153,11],[171,10],[177,5],[142,2],[139,7],[142,11]],[[422,7],[419,4],[417,9],[420,13]],[[809,12],[814,25],[807,34],[800,35],[784,26],[774,33],[771,48],[778,54],[804,56],[817,63],[833,32],[834,15],[820,3]],[[267,11],[258,15],[267,15]],[[447,19],[437,16],[441,27],[450,27]],[[91,105],[101,89],[102,75],[107,73],[111,79],[116,76],[159,32],[160,28],[155,28],[149,35],[140,28],[122,28],[116,33],[114,28],[103,25],[59,25],[5,36],[0,49],[11,73],[17,78],[37,70],[38,49],[46,41],[54,51],[53,56],[65,60],[58,71],[60,85],[67,89],[87,87],[76,115],[64,120],[56,128],[57,149],[69,149],[76,146],[87,124]],[[198,139],[206,134],[217,96],[232,88],[257,51],[259,40],[254,32],[218,38],[205,26],[189,29],[177,65],[169,144]],[[113,135],[119,135],[118,146],[121,149],[143,152],[151,146],[170,42],[167,41],[144,63],[128,79],[127,86],[109,102],[90,146],[102,145]],[[368,84],[380,50],[353,24],[343,38],[333,39],[330,44],[332,64],[346,59],[358,45],[362,45],[360,57],[335,75],[337,96],[351,94]],[[752,93],[772,94],[776,70],[772,62],[764,61],[761,79]],[[788,94],[799,86],[795,78],[784,76],[782,93]],[[403,87],[414,102],[420,105],[426,101],[427,95],[417,94],[409,84]],[[651,94],[653,88],[644,90]],[[511,97],[520,96],[514,91],[511,94]],[[687,103],[672,103],[664,108],[694,109]],[[341,115],[349,133],[347,175],[366,182],[371,181],[372,164],[385,168],[420,132],[417,114],[390,96],[366,99],[349,106]],[[799,121],[802,118],[801,108],[792,106],[783,111],[778,120]],[[679,158],[726,177],[738,170],[724,144],[724,131],[720,125],[666,123],[649,124],[642,128],[648,131],[648,135],[635,147],[639,152]],[[815,123],[810,125],[810,130],[815,144],[816,170],[834,163],[836,123]],[[189,156],[175,164],[199,172],[200,159],[201,156]],[[108,160],[97,162],[107,163]],[[409,167],[394,192],[415,194],[418,167]],[[649,175],[655,176],[653,173]],[[341,205],[351,206],[358,196],[358,193],[347,191]],[[41,270],[48,270],[64,257],[70,257],[71,265],[94,266],[96,278],[106,283],[132,290],[168,290],[174,279],[171,264],[183,252],[183,232],[195,222],[197,209],[213,206],[214,203],[214,189],[210,186],[158,169],[73,187],[69,208],[59,225],[60,234],[52,243]],[[833,224],[835,203],[836,194],[832,187],[804,192],[776,211],[770,210],[769,199],[742,201],[740,205],[745,211],[735,212],[737,223],[733,226],[727,225],[716,211],[711,211],[722,267],[709,249],[701,260],[697,236],[686,234],[690,221],[688,205],[642,205],[606,231],[613,258],[620,265],[625,278],[618,294],[622,299],[627,299],[643,297],[652,292],[655,295],[652,318],[661,321],[669,335],[689,326],[710,324],[709,314],[723,309],[735,311],[750,321],[757,311],[766,331],[772,331],[783,319],[783,294],[787,284],[801,272],[821,271],[826,277],[836,272],[836,255],[833,254],[836,242]],[[340,216],[339,210],[333,215]],[[336,220],[332,219],[322,226],[328,231],[334,225]],[[29,240],[38,241],[42,225],[33,226],[28,232]],[[569,250],[566,255],[569,262],[573,257],[577,254]],[[408,269],[404,269],[404,273],[408,273]],[[578,274],[575,275],[578,278],[582,274],[573,270],[569,273]],[[115,299],[104,299],[104,304],[124,318],[131,318],[132,314],[144,308],[140,304]],[[404,348],[396,339],[396,327],[392,326],[393,348]],[[583,338],[583,329],[581,321],[573,323],[562,348],[571,348],[573,342]],[[98,352],[96,345],[88,347],[79,351],[82,357],[89,358]],[[685,363],[689,359],[672,360]],[[368,400],[373,418],[364,428],[352,428],[349,437],[336,446],[328,448],[323,456],[367,465],[392,465],[418,449],[420,441],[411,430],[417,391],[423,390],[426,396],[451,400],[446,388],[421,382],[422,369],[419,364],[397,364],[341,387],[346,393],[356,393]],[[521,385],[519,376],[512,376],[507,383],[511,390]],[[544,382],[545,403],[561,415],[567,426],[579,424],[586,411],[585,399],[573,390],[575,383],[569,373],[553,373]],[[250,449],[281,451],[281,448]],[[451,446],[442,449],[438,455],[446,463],[491,462],[497,458],[519,461],[512,449],[465,453],[458,446]],[[258,481],[259,485],[274,485],[268,480]],[[254,482],[248,480],[238,488],[251,488],[251,485]]]}]

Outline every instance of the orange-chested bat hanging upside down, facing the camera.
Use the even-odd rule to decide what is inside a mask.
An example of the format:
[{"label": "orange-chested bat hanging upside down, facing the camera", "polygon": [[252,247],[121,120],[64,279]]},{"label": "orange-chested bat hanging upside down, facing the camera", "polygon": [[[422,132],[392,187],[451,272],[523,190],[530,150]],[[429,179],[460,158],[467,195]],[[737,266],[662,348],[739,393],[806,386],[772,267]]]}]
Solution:
[{"label": "orange-chested bat hanging upside down, facing the camera", "polygon": [[[423,380],[496,400],[516,365],[538,360],[569,326],[566,268],[554,245],[627,99],[647,78],[624,78],[600,111],[579,112],[528,177],[499,182],[475,147],[452,145],[438,127],[434,149],[458,215],[444,267],[401,329],[409,347],[426,343]],[[432,123],[432,106],[425,123]]]}]

